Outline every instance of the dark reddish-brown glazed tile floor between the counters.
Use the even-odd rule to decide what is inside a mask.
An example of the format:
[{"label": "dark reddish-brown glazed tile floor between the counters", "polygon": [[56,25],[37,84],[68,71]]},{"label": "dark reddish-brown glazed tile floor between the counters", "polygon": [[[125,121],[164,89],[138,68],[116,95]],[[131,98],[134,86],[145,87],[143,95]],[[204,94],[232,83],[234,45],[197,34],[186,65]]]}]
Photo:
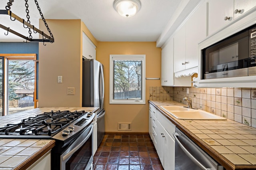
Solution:
[{"label": "dark reddish-brown glazed tile floor between the counters", "polygon": [[94,170],[163,170],[149,135],[105,135]]}]

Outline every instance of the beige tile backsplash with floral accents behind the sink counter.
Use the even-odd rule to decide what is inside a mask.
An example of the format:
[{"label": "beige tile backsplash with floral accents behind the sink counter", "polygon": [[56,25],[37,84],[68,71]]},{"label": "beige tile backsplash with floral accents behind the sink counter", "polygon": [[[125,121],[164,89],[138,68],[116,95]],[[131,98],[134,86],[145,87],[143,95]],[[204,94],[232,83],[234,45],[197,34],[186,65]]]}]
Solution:
[{"label": "beige tile backsplash with floral accents behind the sink counter", "polygon": [[227,119],[256,127],[256,88],[150,87],[150,100],[183,101],[191,97],[192,106]]}]

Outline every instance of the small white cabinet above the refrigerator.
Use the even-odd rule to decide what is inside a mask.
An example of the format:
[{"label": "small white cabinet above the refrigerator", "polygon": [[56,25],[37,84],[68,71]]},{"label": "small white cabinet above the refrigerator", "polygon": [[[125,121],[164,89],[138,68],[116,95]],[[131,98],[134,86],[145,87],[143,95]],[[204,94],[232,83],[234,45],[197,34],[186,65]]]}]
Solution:
[{"label": "small white cabinet above the refrigerator", "polygon": [[83,32],[82,54],[87,59],[96,59],[96,46]]}]

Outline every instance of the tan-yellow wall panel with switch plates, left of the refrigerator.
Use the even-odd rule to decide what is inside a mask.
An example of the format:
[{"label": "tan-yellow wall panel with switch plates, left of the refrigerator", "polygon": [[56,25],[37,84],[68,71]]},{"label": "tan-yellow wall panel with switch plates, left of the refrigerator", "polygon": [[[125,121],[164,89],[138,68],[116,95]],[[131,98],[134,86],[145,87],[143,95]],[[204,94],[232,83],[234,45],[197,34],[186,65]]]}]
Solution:
[{"label": "tan-yellow wall panel with switch plates, left of the refrigerator", "polygon": [[[46,20],[54,43],[39,43],[39,107],[80,107],[82,71],[81,20]],[[49,35],[40,20],[40,30]],[[63,83],[58,83],[58,75]],[[75,95],[67,95],[75,87]]]}]

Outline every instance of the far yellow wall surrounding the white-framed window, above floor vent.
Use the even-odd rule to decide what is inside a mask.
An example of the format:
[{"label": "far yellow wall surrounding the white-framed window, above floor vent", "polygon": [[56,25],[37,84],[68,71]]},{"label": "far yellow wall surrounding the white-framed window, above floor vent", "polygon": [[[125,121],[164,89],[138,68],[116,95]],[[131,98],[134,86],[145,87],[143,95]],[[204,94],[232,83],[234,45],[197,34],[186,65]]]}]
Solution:
[{"label": "far yellow wall surrounding the white-framed window, above floor vent", "polygon": [[[105,131],[148,132],[149,87],[161,86],[160,80],[146,80],[146,105],[109,104],[109,55],[145,54],[146,77],[161,77],[161,48],[156,42],[98,42],[96,59],[104,65]],[[132,131],[119,131],[118,122],[132,123]]]}]

